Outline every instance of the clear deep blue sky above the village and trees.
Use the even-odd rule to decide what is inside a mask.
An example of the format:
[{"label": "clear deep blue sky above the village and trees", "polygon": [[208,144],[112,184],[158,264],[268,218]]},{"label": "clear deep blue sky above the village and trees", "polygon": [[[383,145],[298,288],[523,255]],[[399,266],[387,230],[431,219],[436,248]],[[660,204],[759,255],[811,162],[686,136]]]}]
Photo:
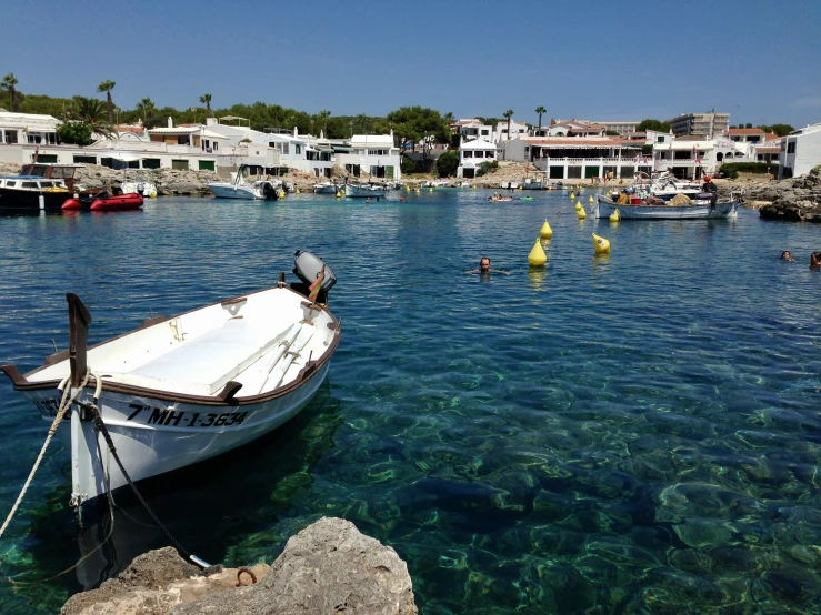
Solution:
[{"label": "clear deep blue sky above the village and trees", "polygon": [[0,75],[132,109],[263,101],[383,115],[821,121],[821,0],[4,0]]}]

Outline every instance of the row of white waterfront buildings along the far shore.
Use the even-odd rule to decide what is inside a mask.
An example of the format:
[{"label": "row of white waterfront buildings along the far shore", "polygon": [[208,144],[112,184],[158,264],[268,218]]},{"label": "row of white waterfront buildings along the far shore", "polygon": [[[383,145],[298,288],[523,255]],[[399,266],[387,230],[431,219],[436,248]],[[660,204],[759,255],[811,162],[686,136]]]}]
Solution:
[{"label": "row of white waterfront buildings along the far shore", "polygon": [[[431,137],[409,143],[393,130],[356,134],[353,123],[346,139],[330,139],[321,129],[318,135],[301,134],[297,128],[257,130],[248,119],[223,115],[178,125],[168,118],[166,125],[156,128],[138,120],[112,125],[104,134],[96,133],[91,144],[79,147],[61,142],[63,122],[52,115],[0,109],[0,164],[7,172],[34,160],[111,170],[197,171],[182,175],[204,177],[199,188],[207,194],[206,180],[218,179],[214,173],[228,178],[242,165],[258,174],[290,178],[302,191],[339,177],[406,181],[402,170],[408,160],[434,162],[457,148],[454,172],[440,174],[461,185],[484,188],[534,177],[545,182],[624,183],[640,172],[699,180],[721,177],[728,162],[765,164],[768,179],[787,179],[821,163],[821,123],[779,137],[762,128],[731,127],[730,114],[714,110],[669,119],[667,131],[643,129],[639,121],[550,119],[542,125],[541,113],[538,124],[505,115],[508,120],[495,124],[452,118],[448,125],[454,138],[449,143]],[[192,192],[183,185],[164,193]]]}]

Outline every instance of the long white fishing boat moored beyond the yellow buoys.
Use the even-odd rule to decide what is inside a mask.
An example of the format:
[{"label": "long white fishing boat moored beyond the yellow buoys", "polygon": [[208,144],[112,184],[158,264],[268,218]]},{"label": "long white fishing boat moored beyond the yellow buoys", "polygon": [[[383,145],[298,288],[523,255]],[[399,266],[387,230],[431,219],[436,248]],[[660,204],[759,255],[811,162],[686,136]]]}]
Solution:
[{"label": "long white fishing boat moored beyond the yellow buoys", "polygon": [[618,209],[622,220],[710,220],[738,218],[739,202],[735,198],[713,199],[713,194],[701,193],[688,198],[687,203],[675,204],[675,200],[663,201],[658,198],[632,198],[627,203],[618,203],[611,198],[599,196],[593,205],[593,218],[610,218]]}]

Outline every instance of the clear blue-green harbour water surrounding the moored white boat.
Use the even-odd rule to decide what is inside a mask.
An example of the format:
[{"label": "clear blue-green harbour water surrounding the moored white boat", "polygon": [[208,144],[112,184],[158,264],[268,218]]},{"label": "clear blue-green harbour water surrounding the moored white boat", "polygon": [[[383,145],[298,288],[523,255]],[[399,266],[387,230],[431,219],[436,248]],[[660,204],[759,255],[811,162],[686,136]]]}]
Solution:
[{"label": "clear blue-green harbour water surrounding the moored white boat", "polygon": [[[821,226],[748,211],[613,226],[558,192],[487,195],[0,218],[0,360],[30,370],[66,346],[67,291],[99,341],[273,284],[311,250],[338,274],[343,325],[320,394],[280,432],[143,486],[190,551],[270,563],[336,515],[397,550],[425,614],[818,612]],[[545,218],[548,266],[530,270]],[[463,273],[480,255],[511,275]],[[3,516],[47,427],[0,382]],[[108,533],[103,506],[74,523],[68,477],[54,443],[0,540],[3,575],[51,576]],[[0,611],[57,612],[166,545],[117,501],[111,543],[56,581],[3,584]]]}]

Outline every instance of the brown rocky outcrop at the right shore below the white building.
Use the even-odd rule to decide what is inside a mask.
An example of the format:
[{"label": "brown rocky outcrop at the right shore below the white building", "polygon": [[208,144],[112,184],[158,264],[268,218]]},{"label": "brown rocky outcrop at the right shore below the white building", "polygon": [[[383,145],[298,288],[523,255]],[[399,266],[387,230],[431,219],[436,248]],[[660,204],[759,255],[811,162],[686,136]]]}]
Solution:
[{"label": "brown rocky outcrop at the right shore below the white building", "polygon": [[759,213],[764,220],[821,222],[821,172],[750,188],[748,201],[764,201]]}]

